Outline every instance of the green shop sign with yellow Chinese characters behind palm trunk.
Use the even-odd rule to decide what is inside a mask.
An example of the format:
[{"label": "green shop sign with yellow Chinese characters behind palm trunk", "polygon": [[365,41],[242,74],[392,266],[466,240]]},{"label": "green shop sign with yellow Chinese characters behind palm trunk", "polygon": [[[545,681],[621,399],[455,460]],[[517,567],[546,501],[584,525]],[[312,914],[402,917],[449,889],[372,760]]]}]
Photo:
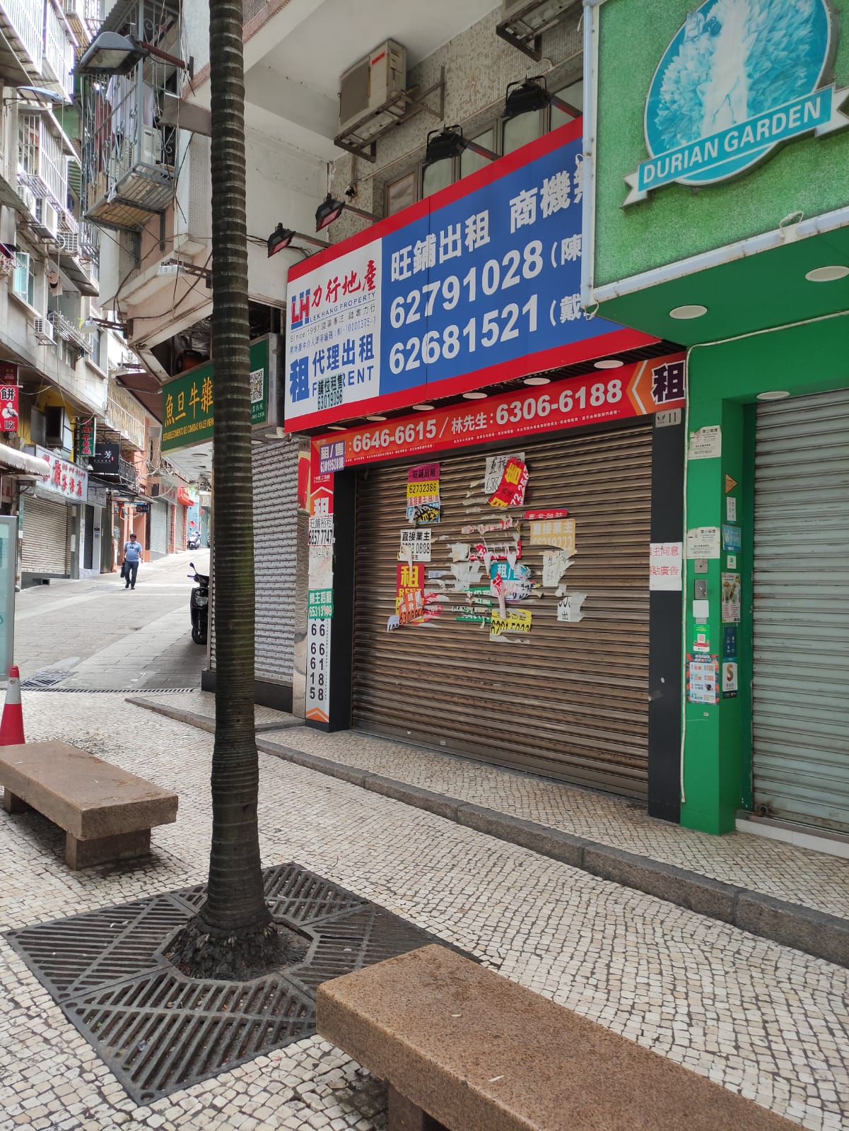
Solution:
[{"label": "green shop sign with yellow Chinese characters behind palm trunk", "polygon": [[[278,336],[251,343],[251,424],[277,423]],[[270,406],[270,407],[269,407]],[[162,387],[162,450],[175,451],[215,435],[215,368],[213,362],[181,373]]]}]

